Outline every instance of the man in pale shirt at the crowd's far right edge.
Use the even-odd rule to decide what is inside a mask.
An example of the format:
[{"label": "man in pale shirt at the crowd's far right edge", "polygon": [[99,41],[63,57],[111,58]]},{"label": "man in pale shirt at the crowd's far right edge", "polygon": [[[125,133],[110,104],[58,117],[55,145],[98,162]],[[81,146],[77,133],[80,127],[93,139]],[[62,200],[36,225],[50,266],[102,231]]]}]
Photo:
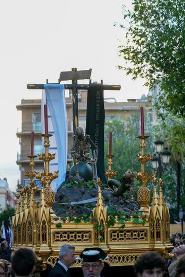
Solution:
[{"label": "man in pale shirt at the crowd's far right edge", "polygon": [[168,268],[170,277],[176,277],[177,276],[177,263],[179,259],[182,257],[183,254],[185,254],[185,245],[181,244],[179,245],[175,251],[174,251],[174,258]]}]

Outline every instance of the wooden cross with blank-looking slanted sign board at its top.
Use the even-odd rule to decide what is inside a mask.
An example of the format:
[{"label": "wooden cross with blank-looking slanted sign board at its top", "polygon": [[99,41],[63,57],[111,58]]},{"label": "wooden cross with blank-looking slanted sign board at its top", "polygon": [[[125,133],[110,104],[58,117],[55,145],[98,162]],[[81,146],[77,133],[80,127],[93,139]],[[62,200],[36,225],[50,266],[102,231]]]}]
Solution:
[{"label": "wooden cross with blank-looking slanted sign board at its top", "polygon": [[[103,85],[101,84],[92,84],[91,80],[89,84],[78,84],[78,80],[90,79],[91,69],[89,70],[77,70],[77,68],[72,68],[71,71],[63,71],[60,73],[59,84],[61,81],[71,80],[72,84],[65,84],[65,89],[72,89],[72,122],[73,122],[73,134],[75,134],[75,129],[78,127],[78,89],[87,90],[93,86],[99,86],[103,90],[120,90],[120,85]],[[48,84],[48,79],[46,80]],[[44,89],[44,84],[28,84],[28,89]]]}]

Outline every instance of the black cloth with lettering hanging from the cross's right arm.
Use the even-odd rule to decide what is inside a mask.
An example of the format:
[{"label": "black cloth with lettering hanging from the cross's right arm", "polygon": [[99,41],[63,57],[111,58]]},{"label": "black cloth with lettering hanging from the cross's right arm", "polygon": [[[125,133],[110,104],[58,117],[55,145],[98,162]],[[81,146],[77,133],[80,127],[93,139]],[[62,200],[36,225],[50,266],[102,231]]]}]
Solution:
[{"label": "black cloth with lettering hanging from the cross's right arm", "polygon": [[[91,140],[98,146],[97,173],[103,183],[107,183],[104,167],[104,123],[105,109],[103,89],[93,86],[87,91],[87,115],[85,133],[90,135]],[[95,148],[91,145],[93,152]]]}]

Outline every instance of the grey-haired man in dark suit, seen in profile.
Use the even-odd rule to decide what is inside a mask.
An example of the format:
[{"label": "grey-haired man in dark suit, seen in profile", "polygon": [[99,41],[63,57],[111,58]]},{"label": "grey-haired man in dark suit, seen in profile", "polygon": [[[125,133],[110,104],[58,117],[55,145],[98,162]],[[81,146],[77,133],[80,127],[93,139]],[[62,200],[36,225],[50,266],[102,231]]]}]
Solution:
[{"label": "grey-haired man in dark suit, seen in profile", "polygon": [[70,277],[68,267],[75,263],[75,247],[64,244],[61,246],[59,261],[49,272],[49,277]]}]

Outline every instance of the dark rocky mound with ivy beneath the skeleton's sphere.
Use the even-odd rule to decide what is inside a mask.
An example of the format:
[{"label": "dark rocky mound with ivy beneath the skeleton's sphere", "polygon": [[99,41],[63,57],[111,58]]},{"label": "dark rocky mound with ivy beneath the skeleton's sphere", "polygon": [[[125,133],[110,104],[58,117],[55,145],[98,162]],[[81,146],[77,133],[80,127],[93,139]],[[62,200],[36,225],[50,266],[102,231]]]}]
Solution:
[{"label": "dark rocky mound with ivy beneath the skeleton's sphere", "polygon": [[[117,183],[119,184],[119,182]],[[108,208],[116,208],[120,213],[126,212],[133,214],[137,212],[139,210],[138,203],[131,199],[126,200],[124,194],[116,196],[115,194],[118,189],[116,187],[113,188],[113,186],[102,186],[102,196],[105,206]],[[55,194],[55,202],[52,209],[57,216],[63,218],[66,216],[88,216],[96,205],[97,193],[96,183],[92,181],[85,182],[83,178],[80,178],[77,182],[68,177]],[[81,203],[83,200],[85,203]],[[75,204],[73,203],[71,205],[71,202],[75,202]]]}]

